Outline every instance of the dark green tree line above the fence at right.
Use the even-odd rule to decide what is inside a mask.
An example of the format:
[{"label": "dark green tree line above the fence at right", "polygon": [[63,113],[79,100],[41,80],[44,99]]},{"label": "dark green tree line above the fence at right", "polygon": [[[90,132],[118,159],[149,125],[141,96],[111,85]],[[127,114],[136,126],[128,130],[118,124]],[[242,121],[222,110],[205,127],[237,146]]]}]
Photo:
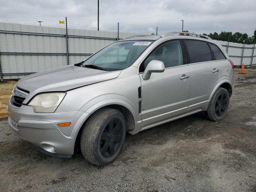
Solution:
[{"label": "dark green tree line above the fence at right", "polygon": [[203,34],[206,35],[214,40],[220,40],[220,41],[228,41],[234,42],[234,43],[244,43],[245,44],[254,44],[256,42],[256,30],[254,30],[254,35],[252,37],[249,37],[246,33],[240,33],[235,32],[234,34],[232,32],[226,32],[222,31],[220,34],[217,32],[210,33],[210,34]]}]

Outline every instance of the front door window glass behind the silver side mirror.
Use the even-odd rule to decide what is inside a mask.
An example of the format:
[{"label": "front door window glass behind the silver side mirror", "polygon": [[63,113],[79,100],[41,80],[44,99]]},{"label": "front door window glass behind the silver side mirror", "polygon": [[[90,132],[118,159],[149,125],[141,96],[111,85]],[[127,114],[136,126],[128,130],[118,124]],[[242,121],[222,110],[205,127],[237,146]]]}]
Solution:
[{"label": "front door window glass behind the silver side mirror", "polygon": [[169,41],[158,46],[140,65],[140,72],[143,72],[148,63],[152,60],[159,60],[164,62],[165,68],[183,65],[183,56],[180,41]]}]

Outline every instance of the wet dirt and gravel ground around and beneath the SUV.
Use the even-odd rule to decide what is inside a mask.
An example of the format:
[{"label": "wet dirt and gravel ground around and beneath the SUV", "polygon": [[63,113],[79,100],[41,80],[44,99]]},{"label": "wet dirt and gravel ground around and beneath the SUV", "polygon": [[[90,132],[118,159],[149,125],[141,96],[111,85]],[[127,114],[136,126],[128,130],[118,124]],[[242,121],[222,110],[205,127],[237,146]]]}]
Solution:
[{"label": "wet dirt and gravel ground around and beneath the SUV", "polygon": [[[44,155],[2,118],[0,191],[256,192],[256,70],[246,73],[236,70],[224,120],[198,113],[127,135],[122,154],[104,167],[78,149],[70,159]],[[2,117],[13,86],[0,84]]]}]

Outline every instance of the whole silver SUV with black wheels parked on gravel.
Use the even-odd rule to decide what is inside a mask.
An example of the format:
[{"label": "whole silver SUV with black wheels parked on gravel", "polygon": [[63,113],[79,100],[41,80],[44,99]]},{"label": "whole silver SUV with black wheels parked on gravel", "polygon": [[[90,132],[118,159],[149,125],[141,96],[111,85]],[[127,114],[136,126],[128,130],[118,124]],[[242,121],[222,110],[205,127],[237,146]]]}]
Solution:
[{"label": "whole silver SUV with black wheels parked on gravel", "polygon": [[80,142],[86,160],[106,165],[120,154],[126,132],[201,111],[222,120],[233,67],[222,47],[200,34],[130,36],[78,64],[20,79],[8,122],[46,154],[71,157]]}]

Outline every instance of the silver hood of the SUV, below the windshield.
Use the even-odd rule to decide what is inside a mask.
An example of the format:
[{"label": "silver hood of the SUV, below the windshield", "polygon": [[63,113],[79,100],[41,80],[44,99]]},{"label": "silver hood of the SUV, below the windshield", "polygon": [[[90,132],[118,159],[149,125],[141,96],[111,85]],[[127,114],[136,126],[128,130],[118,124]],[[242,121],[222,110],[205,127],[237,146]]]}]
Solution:
[{"label": "silver hood of the SUV, below the windshield", "polygon": [[17,82],[17,87],[28,90],[29,96],[40,92],[67,91],[117,78],[120,72],[70,65],[26,76]]}]

